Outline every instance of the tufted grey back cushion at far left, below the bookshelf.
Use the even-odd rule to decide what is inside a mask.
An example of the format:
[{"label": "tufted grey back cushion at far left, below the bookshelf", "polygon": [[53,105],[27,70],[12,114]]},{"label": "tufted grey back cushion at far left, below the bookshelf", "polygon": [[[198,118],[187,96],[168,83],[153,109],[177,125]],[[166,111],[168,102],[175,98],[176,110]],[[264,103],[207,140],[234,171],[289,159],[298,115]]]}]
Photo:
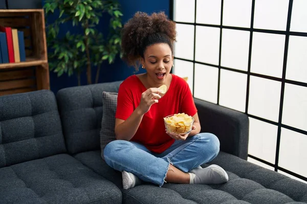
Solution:
[{"label": "tufted grey back cushion at far left, below the bookshelf", "polygon": [[0,97],[0,167],[66,152],[53,92]]}]

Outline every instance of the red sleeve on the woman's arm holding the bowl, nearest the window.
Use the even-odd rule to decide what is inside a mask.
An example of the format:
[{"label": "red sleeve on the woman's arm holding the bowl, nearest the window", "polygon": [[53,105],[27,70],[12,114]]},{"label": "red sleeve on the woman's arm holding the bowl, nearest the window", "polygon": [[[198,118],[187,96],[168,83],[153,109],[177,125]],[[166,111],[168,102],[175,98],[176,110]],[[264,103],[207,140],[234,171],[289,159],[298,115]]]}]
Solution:
[{"label": "red sleeve on the woman's arm holding the bowl, nearest the window", "polygon": [[182,87],[183,93],[181,94],[181,112],[193,116],[197,113],[193,94],[189,85],[185,81],[182,82]]}]

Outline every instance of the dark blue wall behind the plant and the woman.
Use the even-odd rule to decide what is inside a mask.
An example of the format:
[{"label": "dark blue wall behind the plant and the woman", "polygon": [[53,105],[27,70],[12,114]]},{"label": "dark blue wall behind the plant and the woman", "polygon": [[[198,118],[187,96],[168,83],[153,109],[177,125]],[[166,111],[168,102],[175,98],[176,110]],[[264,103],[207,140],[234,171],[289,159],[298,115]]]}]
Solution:
[{"label": "dark blue wall behind the plant and the woman", "polygon": [[[42,0],[44,2],[44,0]],[[166,15],[169,15],[169,1],[167,0],[155,0],[155,1],[148,1],[148,0],[118,0],[118,2],[121,4],[122,9],[122,23],[124,24],[129,18],[133,17],[133,15],[137,11],[146,12],[148,14],[151,14],[152,12],[159,12],[164,11]],[[58,15],[56,15],[58,16]],[[48,17],[46,21],[52,22],[56,16]],[[105,31],[105,28],[107,28],[107,21],[108,19],[101,20],[100,26],[101,31]],[[64,29],[61,29],[60,35],[64,35],[67,31],[71,31],[72,33],[78,33],[80,30],[78,28],[74,27],[65,27]],[[96,70],[92,70],[93,78],[92,80],[95,81],[95,74]],[[144,70],[141,70],[138,73],[144,72]],[[102,64],[101,70],[100,70],[100,78],[99,83],[102,82],[113,82],[113,81],[119,81],[124,80],[129,75],[135,74],[135,69],[133,67],[128,67],[119,57],[116,59],[114,64],[109,65],[108,63]],[[82,73],[81,77],[81,85],[86,84],[86,74],[85,72]],[[53,73],[53,71],[50,72],[50,87],[51,90],[56,93],[59,89],[65,88],[65,87],[72,87],[77,86],[77,78],[75,75],[72,75],[71,77],[68,77],[67,74],[63,74],[61,77],[57,77],[56,73]]]}]

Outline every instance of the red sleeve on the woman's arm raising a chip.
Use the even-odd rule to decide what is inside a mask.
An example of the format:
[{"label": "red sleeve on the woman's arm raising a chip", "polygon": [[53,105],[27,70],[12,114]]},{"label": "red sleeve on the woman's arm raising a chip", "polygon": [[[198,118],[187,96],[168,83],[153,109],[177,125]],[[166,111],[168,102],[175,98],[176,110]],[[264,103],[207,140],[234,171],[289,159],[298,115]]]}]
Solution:
[{"label": "red sleeve on the woman's arm raising a chip", "polygon": [[126,120],[134,111],[133,95],[128,87],[125,82],[119,86],[115,118]]}]

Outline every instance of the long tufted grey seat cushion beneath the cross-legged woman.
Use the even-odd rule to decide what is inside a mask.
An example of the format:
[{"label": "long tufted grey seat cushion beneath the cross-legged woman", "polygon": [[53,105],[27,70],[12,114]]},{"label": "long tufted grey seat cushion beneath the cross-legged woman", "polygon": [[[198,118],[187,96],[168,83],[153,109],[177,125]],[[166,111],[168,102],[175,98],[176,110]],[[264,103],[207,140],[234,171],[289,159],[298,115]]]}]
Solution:
[{"label": "long tufted grey seat cushion beneath the cross-legged woman", "polygon": [[75,158],[114,182],[122,190],[124,203],[307,203],[307,184],[225,152],[202,166],[222,166],[229,175],[226,184],[165,183],[159,188],[147,183],[128,190],[122,189],[121,173],[101,159],[100,151],[83,152]]}]

